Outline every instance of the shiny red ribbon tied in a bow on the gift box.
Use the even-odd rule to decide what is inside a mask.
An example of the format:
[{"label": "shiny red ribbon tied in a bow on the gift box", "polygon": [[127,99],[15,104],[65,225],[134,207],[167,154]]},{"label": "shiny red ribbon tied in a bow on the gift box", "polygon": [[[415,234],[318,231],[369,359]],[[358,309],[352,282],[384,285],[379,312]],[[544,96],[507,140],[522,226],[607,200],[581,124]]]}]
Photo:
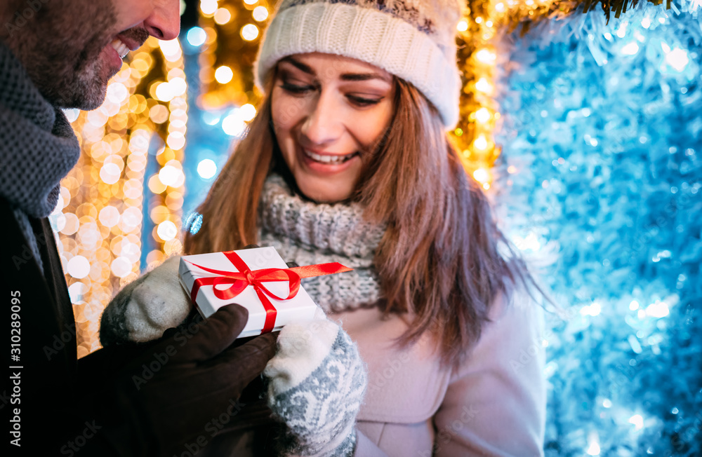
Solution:
[{"label": "shiny red ribbon tied in a bow on the gift box", "polygon": [[[307,265],[307,266],[296,266],[295,268],[263,268],[261,270],[253,270],[246,265],[246,262],[241,260],[241,257],[234,251],[223,252],[227,259],[237,268],[238,271],[223,271],[215,270],[213,268],[207,268],[206,266],[201,266],[198,264],[193,264],[188,262],[197,268],[201,268],[209,273],[215,273],[218,276],[210,276],[208,278],[197,278],[192,285],[192,290],[190,291],[190,299],[192,303],[195,303],[195,297],[200,287],[204,285],[213,286],[213,292],[215,296],[220,300],[233,299],[235,296],[241,294],[246,287],[250,285],[256,290],[258,298],[261,303],[263,303],[263,308],[265,308],[265,323],[263,325],[263,330],[261,334],[271,332],[275,327],[275,318],[277,316],[277,310],[273,303],[270,302],[267,296],[270,296],[278,300],[289,300],[298,294],[300,290],[300,278],[312,278],[313,276],[331,275],[333,273],[343,273],[345,271],[351,271],[352,268],[343,266],[338,262],[333,262],[331,264],[318,264],[318,265]],[[289,282],[289,294],[286,297],[277,296],[273,292],[263,285],[263,282],[275,282],[275,281],[287,281]],[[226,289],[218,289],[218,285],[227,285],[230,287]],[[266,296],[267,295],[267,296]]]}]

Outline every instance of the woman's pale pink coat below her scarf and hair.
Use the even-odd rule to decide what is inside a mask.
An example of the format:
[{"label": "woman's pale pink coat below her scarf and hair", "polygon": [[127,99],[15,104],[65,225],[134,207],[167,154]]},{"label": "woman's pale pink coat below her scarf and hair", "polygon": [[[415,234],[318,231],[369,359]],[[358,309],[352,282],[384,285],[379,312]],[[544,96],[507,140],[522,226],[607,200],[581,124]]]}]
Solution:
[{"label": "woman's pale pink coat below her scarf and hair", "polygon": [[329,316],[358,343],[369,386],[355,456],[543,456],[543,311],[498,299],[458,369],[441,369],[428,336],[406,348],[407,324],[377,308]]}]

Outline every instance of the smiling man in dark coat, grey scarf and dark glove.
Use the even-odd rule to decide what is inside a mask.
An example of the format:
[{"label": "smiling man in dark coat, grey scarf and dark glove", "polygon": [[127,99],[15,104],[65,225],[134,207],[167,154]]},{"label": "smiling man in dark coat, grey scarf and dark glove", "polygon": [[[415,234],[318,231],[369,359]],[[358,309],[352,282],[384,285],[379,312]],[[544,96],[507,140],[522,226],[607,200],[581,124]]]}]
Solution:
[{"label": "smiling man in dark coat, grey scarf and dark glove", "polygon": [[129,50],[148,36],[178,36],[178,5],[0,4],[0,283],[11,329],[0,409],[10,455],[194,455],[208,430],[231,428],[241,416],[241,391],[274,354],[270,334],[232,347],[248,317],[232,305],[155,343],[77,360],[72,304],[46,219],[80,152],[60,108],[100,106]]}]

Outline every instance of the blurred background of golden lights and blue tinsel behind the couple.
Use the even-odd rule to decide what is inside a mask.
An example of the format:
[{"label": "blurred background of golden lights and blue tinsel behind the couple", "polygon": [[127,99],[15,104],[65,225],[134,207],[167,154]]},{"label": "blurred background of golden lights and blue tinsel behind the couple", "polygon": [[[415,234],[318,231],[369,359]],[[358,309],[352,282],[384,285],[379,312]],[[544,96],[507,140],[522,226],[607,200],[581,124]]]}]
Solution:
[{"label": "blurred background of golden lights and blue tinsel behind the couple", "polygon": [[[178,39],[130,53],[100,109],[67,111],[83,154],[51,220],[79,356],[119,288],[197,230],[256,116],[273,10],[185,1]],[[457,33],[451,140],[559,305],[535,342],[546,455],[701,456],[702,2],[467,1]]]}]

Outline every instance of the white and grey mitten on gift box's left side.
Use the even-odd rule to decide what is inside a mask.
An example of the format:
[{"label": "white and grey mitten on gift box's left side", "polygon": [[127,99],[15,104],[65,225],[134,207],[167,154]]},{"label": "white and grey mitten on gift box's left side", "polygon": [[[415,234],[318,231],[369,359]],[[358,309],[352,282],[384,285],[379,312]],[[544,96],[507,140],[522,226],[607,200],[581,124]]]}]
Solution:
[{"label": "white and grey mitten on gift box's left side", "polygon": [[187,318],[192,304],[178,281],[179,264],[171,257],[121,289],[102,313],[102,346],[159,339]]}]

